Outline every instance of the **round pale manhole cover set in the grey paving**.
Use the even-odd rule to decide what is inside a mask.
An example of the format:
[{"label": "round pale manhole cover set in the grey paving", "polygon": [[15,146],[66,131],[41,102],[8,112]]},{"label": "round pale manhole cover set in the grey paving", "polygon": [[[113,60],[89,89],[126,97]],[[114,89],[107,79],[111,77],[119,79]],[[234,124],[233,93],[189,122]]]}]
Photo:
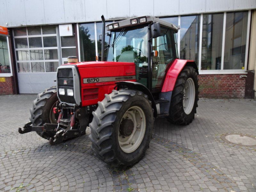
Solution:
[{"label": "round pale manhole cover set in the grey paving", "polygon": [[256,145],[255,138],[248,137],[245,135],[238,135],[238,134],[222,135],[221,139],[226,142],[235,143],[238,145],[245,145],[245,146]]}]

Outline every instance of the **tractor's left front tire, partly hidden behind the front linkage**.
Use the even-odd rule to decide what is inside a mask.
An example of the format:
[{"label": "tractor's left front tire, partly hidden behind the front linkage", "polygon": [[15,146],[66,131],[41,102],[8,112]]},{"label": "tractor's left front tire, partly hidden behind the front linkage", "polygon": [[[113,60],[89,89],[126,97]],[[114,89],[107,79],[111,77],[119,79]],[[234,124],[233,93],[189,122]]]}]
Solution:
[{"label": "tractor's left front tire, partly hidden behind the front linkage", "polygon": [[[55,107],[56,102],[59,101],[57,97],[57,88],[53,86],[49,89],[44,90],[44,92],[39,93],[37,98],[33,101],[33,107],[30,108],[30,121],[32,126],[42,126],[45,123],[57,123],[56,119],[50,118],[53,111],[52,108]],[[38,135],[44,139],[49,140],[50,137],[53,138],[54,132],[36,132]]]}]

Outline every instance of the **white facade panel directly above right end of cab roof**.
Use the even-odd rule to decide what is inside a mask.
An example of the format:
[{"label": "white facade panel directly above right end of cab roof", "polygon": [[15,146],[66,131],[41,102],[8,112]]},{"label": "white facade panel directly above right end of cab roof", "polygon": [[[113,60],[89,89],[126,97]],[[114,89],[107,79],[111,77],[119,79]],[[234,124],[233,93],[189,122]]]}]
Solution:
[{"label": "white facade panel directly above right end of cab roof", "polygon": [[178,15],[179,1],[177,0],[155,0],[154,16]]}]

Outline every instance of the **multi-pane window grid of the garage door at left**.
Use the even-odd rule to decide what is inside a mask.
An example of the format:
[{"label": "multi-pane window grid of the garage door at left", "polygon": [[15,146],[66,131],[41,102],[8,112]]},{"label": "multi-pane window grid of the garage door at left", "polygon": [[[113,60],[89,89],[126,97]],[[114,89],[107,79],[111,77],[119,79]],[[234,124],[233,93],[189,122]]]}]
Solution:
[{"label": "multi-pane window grid of the garage door at left", "polygon": [[13,30],[19,73],[56,72],[59,66],[56,26],[33,26]]}]

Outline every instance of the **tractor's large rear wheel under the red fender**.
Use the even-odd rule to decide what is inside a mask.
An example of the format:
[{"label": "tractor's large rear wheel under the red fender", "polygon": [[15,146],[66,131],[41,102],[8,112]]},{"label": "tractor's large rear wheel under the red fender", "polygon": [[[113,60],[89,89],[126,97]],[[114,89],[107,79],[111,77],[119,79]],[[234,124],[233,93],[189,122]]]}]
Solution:
[{"label": "tractor's large rear wheel under the red fender", "polygon": [[[188,91],[186,91],[185,88],[188,88]],[[196,108],[198,107],[198,88],[199,85],[196,69],[191,66],[184,67],[177,78],[172,92],[169,111],[170,116],[167,117],[171,123],[187,125],[192,122],[195,117]],[[191,98],[192,100],[189,100]]]}]

